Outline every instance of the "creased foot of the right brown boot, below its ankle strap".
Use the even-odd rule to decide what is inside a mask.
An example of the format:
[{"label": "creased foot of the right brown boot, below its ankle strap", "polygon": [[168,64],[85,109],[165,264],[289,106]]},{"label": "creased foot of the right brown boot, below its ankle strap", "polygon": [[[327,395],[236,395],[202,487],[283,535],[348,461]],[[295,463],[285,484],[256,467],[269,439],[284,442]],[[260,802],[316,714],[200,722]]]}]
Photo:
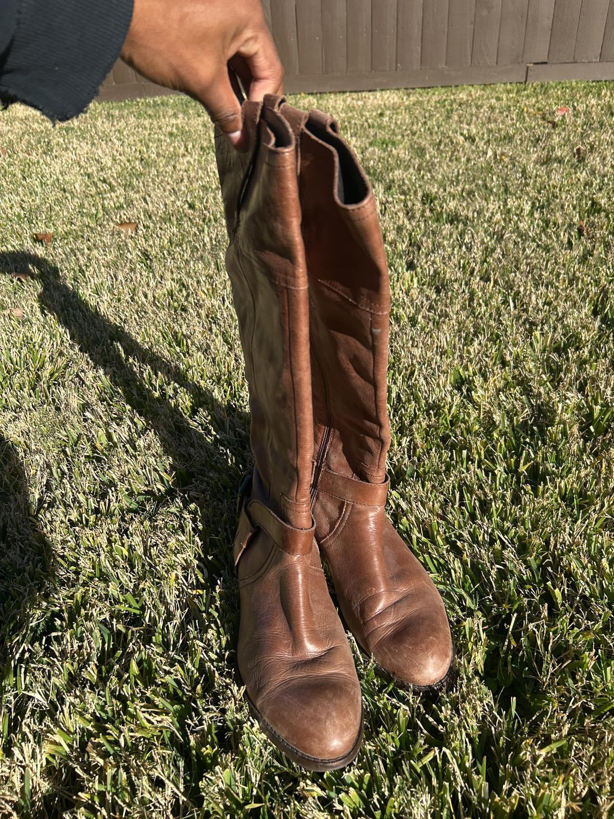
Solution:
[{"label": "creased foot of the right brown boot, below its ankle strap", "polygon": [[[454,663],[444,601],[383,505],[354,503],[350,514],[348,505],[345,523],[320,544],[345,622],[364,653],[400,685],[440,690]],[[327,506],[316,505],[316,521],[321,511]]]}]

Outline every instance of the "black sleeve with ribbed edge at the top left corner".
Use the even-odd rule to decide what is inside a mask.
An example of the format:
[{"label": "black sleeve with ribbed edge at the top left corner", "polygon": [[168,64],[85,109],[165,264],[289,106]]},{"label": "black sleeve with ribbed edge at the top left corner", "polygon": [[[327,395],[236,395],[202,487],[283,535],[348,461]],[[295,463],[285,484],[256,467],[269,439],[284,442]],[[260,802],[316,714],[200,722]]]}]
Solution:
[{"label": "black sleeve with ribbed edge at the top left corner", "polygon": [[133,0],[0,0],[0,100],[70,120],[119,57]]}]

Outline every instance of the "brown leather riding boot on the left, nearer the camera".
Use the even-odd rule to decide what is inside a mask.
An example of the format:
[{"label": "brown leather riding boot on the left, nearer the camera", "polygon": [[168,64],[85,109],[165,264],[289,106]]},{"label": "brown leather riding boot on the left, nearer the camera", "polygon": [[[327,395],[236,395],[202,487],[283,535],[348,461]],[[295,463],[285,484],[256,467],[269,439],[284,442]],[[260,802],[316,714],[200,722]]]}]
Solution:
[{"label": "brown leather riding boot on the left, nearer the camera", "polygon": [[309,485],[314,455],[309,291],[296,143],[282,118],[246,102],[249,154],[216,138],[255,467],[234,542],[241,596],[237,661],[264,733],[314,771],[358,753],[362,699],[328,594]]}]

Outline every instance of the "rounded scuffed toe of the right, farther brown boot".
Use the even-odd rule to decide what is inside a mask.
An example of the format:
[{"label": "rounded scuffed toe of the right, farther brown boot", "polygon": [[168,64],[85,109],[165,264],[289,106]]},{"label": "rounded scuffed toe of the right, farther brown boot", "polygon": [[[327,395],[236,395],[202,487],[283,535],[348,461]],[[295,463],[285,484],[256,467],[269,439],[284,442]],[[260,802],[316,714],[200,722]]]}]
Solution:
[{"label": "rounded scuffed toe of the right, farther brown boot", "polygon": [[407,686],[440,688],[454,660],[454,647],[443,606],[407,614],[372,648],[377,665]]}]

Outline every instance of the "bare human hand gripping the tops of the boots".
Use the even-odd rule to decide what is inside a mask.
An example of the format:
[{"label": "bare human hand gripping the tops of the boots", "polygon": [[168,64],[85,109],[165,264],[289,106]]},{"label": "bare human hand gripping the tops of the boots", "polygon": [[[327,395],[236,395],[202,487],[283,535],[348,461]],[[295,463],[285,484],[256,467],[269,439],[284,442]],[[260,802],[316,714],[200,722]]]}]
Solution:
[{"label": "bare human hand gripping the tops of the boots", "polygon": [[247,136],[233,73],[251,100],[282,93],[260,0],[134,0],[121,56],[152,82],[201,102],[240,151]]}]

